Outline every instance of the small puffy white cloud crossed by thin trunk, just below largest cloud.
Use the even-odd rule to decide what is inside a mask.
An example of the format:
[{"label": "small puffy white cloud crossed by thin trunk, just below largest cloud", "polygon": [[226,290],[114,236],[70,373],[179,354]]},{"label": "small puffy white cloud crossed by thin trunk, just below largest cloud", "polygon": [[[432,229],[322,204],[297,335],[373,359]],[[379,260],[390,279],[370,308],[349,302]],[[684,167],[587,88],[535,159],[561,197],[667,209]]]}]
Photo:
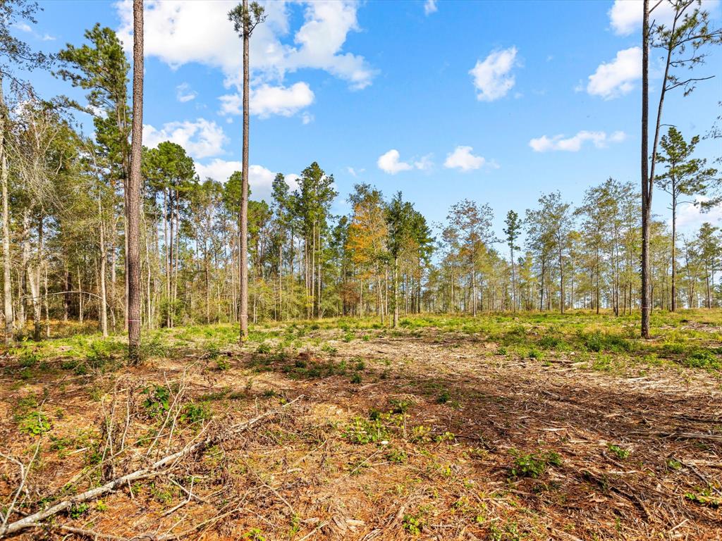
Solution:
[{"label": "small puffy white cloud crossed by thin trunk, just below largest cloud", "polygon": [[[290,87],[261,84],[251,89],[251,114],[261,118],[271,115],[292,116],[313,103],[314,94],[308,84],[298,82]],[[226,94],[219,97],[222,115],[243,113],[243,96]],[[305,123],[305,122],[304,122]]]}]

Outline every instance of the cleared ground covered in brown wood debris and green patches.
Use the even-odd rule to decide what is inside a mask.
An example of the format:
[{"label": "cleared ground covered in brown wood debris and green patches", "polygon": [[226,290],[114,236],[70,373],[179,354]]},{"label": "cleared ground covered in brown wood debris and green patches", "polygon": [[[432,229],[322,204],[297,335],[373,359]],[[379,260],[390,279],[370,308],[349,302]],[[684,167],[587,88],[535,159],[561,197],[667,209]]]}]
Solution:
[{"label": "cleared ground covered in brown wood debris and green patches", "polygon": [[0,374],[2,509],[69,501],[26,539],[722,539],[722,311],[637,329],[422,315],[256,325],[241,348],[179,327],[137,369],[121,338],[24,343]]}]

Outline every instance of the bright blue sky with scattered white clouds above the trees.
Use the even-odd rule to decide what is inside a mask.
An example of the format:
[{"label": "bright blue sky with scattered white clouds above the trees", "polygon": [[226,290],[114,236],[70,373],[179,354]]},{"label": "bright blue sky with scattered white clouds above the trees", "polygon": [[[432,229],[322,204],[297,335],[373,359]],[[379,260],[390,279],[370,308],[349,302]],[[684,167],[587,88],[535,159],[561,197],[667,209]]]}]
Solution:
[{"label": "bright blue sky with scattered white clouds above the trees", "polygon": [[[17,32],[55,51],[95,22],[131,43],[125,2],[41,2]],[[146,4],[144,143],[186,146],[201,176],[240,168],[241,41],[232,2]],[[720,4],[706,1],[717,26]],[[463,198],[490,203],[500,233],[542,192],[578,203],[607,177],[639,179],[641,2],[367,1],[267,3],[251,41],[251,189],[317,161],[341,194],[355,182],[402,190],[430,221]],[[658,17],[664,18],[664,12]],[[653,59],[652,102],[659,84]],[[700,74],[722,75],[722,48]],[[49,74],[45,96],[82,92]],[[719,114],[722,77],[669,96],[664,122],[703,134]],[[89,120],[88,118],[81,120]],[[90,123],[87,123],[90,128]],[[700,157],[722,154],[704,141]],[[292,176],[290,177],[292,180]],[[666,194],[655,210],[667,214]],[[722,222],[682,211],[682,230]]]}]

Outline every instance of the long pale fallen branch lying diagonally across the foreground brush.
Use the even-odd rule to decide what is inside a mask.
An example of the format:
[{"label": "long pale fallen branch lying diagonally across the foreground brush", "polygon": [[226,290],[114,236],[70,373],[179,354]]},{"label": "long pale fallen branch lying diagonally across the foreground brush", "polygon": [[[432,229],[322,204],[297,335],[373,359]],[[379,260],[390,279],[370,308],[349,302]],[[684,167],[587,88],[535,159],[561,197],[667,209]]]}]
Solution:
[{"label": "long pale fallen branch lying diagonally across the foreground brush", "polygon": [[[288,406],[295,403],[297,400],[300,400],[300,398],[302,397],[303,395],[300,395],[291,402],[284,404],[282,406],[282,409],[287,408]],[[202,441],[196,441],[196,443],[194,444],[189,444],[186,447],[183,447],[183,449],[181,449],[180,451],[169,454],[167,457],[163,457],[153,462],[148,467],[144,467],[140,470],[136,470],[134,472],[123,475],[122,477],[111,480],[108,483],[105,483],[105,485],[91,488],[89,491],[78,494],[74,498],[60,501],[43,511],[38,511],[37,513],[25,516],[22,519],[17,520],[16,522],[12,522],[11,524],[6,525],[6,527],[4,527],[4,529],[0,531],[0,538],[14,535],[23,529],[38,527],[38,524],[41,524],[45,519],[48,519],[51,516],[60,513],[61,511],[65,511],[66,509],[71,509],[71,507],[74,506],[76,503],[95,500],[96,498],[99,498],[104,494],[115,491],[117,488],[123,485],[130,484],[131,481],[144,478],[149,474],[153,474],[158,470],[162,470],[163,468],[168,467],[169,465],[173,465],[173,463],[176,462],[178,459],[187,457],[188,455],[195,454],[197,452],[201,452],[207,447],[212,447],[213,445],[218,444],[223,439],[227,439],[230,436],[235,436],[236,434],[240,434],[241,432],[248,430],[248,428],[252,428],[260,421],[263,421],[265,418],[269,418],[273,415],[278,415],[279,413],[281,413],[282,409],[269,410],[261,413],[260,415],[256,415],[256,417],[252,418],[249,421],[245,421],[245,423],[240,423],[238,425],[232,426],[227,432],[224,432],[222,434],[213,434],[206,437],[206,439]]]}]

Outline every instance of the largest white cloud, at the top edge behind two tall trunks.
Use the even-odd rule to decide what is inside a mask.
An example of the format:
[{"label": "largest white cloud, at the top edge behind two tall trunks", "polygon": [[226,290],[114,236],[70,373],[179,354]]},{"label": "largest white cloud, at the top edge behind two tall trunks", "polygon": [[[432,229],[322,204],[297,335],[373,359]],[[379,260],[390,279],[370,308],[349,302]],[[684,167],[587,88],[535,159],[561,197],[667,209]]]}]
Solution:
[{"label": "largest white cloud, at the top edge behind two tall trunks", "polygon": [[[172,68],[201,63],[221,69],[227,87],[241,86],[243,56],[241,40],[227,14],[237,0],[160,1],[145,3],[145,54]],[[253,31],[251,70],[253,79],[280,83],[284,75],[298,69],[328,71],[349,83],[352,89],[371,84],[375,70],[365,58],[344,52],[349,32],[357,32],[355,1],[313,1],[305,4],[303,25],[293,35],[293,45],[281,39],[290,33],[293,4],[266,2],[266,20]],[[126,50],[133,40],[131,0],[116,3],[121,25],[118,36]]]}]

